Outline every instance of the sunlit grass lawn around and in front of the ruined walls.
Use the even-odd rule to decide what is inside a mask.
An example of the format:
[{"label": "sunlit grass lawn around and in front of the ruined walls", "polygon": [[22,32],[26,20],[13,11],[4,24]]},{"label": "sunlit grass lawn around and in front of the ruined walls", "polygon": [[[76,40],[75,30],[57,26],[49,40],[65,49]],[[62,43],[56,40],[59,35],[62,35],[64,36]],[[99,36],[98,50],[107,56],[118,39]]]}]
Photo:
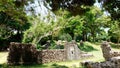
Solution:
[{"label": "sunlit grass lawn around and in front of the ruined walls", "polygon": [[[92,44],[90,42],[85,42],[84,44],[85,46],[83,49],[86,49],[86,51],[89,54],[93,54],[94,57],[84,58],[80,60],[65,61],[65,62],[54,62],[54,63],[52,62],[43,65],[10,66],[9,68],[67,68],[67,67],[72,68],[73,66],[76,66],[77,68],[78,67],[81,68],[80,62],[82,61],[94,61],[94,62],[104,61],[100,45]],[[88,47],[91,48],[91,50]],[[114,50],[118,50],[118,49],[114,49]],[[7,61],[7,54],[8,52],[0,52],[0,64],[3,66],[3,68],[7,67],[7,65],[4,64]]]}]

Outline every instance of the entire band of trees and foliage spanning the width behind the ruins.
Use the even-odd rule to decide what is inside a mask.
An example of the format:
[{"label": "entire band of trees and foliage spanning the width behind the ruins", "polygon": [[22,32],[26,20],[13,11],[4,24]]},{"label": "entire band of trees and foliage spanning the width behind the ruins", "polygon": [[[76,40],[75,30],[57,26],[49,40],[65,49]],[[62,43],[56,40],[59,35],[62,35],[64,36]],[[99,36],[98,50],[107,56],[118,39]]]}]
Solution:
[{"label": "entire band of trees and foliage spanning the width behind the ruins", "polygon": [[[33,6],[36,2],[38,5]],[[95,0],[0,0],[0,43],[16,41],[44,45],[48,40],[109,40],[119,43],[120,2],[99,2],[110,15],[105,15],[101,8],[95,7]],[[42,6],[47,12],[46,19],[41,20],[42,14],[36,15],[36,11],[36,14],[27,13],[33,12],[35,7],[44,9]],[[27,7],[30,9],[26,10]]]}]

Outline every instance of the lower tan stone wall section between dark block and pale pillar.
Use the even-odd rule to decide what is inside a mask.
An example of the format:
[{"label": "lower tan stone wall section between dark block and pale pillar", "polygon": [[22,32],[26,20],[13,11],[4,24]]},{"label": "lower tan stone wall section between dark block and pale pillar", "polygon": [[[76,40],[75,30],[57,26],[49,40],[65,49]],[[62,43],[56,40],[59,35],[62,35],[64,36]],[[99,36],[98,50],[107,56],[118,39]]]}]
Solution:
[{"label": "lower tan stone wall section between dark block and pale pillar", "polygon": [[38,51],[39,63],[58,62],[66,60],[65,49]]}]

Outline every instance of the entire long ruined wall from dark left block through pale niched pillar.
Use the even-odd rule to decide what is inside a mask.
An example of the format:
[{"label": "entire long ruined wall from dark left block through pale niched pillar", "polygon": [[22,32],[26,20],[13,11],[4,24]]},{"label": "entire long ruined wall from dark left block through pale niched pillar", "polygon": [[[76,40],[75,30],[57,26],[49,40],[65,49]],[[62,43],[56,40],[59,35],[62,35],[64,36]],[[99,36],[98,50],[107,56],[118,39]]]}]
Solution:
[{"label": "entire long ruined wall from dark left block through pale niched pillar", "polygon": [[64,49],[37,50],[34,46],[35,45],[33,44],[10,43],[7,58],[8,64],[42,64],[66,60],[78,60],[92,56],[80,51],[76,42],[66,42]]}]

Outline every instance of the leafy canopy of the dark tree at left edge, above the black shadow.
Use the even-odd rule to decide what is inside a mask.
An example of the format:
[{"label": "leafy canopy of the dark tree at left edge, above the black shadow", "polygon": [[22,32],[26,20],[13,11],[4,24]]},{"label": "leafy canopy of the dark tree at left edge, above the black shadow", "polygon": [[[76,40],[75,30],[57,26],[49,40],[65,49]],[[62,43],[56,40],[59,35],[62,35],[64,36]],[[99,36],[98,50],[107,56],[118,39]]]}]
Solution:
[{"label": "leafy canopy of the dark tree at left edge, above the black shadow", "polygon": [[[19,3],[19,4],[18,4]],[[14,0],[0,1],[0,38],[7,39],[16,31],[21,34],[22,31],[29,28],[28,19],[24,11],[23,2]]]}]

